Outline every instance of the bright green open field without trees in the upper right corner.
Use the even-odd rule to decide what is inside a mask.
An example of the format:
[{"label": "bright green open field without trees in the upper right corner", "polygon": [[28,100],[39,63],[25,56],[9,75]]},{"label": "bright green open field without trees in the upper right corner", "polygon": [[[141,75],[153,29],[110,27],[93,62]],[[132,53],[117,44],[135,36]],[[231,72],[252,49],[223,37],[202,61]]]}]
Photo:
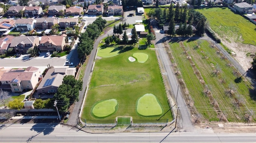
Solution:
[{"label": "bright green open field without trees in the upper right corner", "polygon": [[229,8],[203,8],[196,11],[207,18],[212,30],[222,39],[256,45],[256,25]]}]

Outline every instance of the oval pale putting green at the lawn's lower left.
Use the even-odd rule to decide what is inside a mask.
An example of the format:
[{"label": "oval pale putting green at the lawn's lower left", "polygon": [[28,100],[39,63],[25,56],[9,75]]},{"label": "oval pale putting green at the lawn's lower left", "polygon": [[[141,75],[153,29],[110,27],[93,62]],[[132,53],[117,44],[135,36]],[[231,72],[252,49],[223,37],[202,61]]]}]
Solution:
[{"label": "oval pale putting green at the lawn's lower left", "polygon": [[92,108],[92,114],[97,117],[109,116],[116,111],[117,105],[116,99],[103,100]]}]

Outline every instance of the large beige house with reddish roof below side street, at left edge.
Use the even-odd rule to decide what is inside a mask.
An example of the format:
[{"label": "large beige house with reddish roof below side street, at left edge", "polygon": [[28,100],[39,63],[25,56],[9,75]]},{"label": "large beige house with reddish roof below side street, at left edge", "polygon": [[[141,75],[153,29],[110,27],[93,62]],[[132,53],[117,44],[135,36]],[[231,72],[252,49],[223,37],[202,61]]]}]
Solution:
[{"label": "large beige house with reddish roof below side street, at left edge", "polygon": [[0,79],[0,89],[12,90],[12,92],[34,89],[36,84],[38,84],[40,75],[41,73],[36,67],[6,71],[2,74]]}]

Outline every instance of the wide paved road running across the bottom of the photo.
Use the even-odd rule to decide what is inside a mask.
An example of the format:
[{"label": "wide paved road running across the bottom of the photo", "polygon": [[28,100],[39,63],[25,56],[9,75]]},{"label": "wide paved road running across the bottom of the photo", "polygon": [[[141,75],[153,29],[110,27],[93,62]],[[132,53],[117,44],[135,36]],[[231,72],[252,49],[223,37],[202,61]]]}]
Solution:
[{"label": "wide paved road running across the bottom of the photo", "polygon": [[86,133],[60,124],[0,125],[0,143],[253,143],[256,133],[191,132]]}]

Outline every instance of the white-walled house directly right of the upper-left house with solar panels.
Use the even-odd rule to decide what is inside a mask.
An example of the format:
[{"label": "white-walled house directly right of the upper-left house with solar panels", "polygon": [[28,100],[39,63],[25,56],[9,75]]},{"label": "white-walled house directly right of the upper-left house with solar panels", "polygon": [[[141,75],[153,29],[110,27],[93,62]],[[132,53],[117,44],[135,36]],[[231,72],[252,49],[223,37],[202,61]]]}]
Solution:
[{"label": "white-walled house directly right of the upper-left house with solar panels", "polygon": [[15,21],[15,27],[18,31],[31,31],[35,28],[36,20],[34,18],[20,18]]}]

